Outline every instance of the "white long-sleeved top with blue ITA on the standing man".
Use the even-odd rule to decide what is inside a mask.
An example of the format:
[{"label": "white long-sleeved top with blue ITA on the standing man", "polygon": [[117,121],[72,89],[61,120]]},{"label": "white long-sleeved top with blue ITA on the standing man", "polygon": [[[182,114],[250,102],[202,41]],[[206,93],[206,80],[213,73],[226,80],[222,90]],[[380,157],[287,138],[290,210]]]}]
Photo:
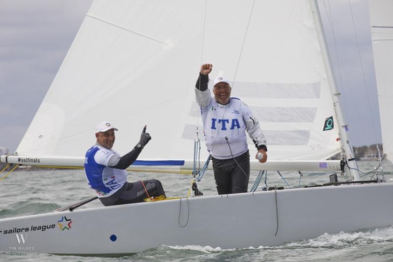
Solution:
[{"label": "white long-sleeved top with blue ITA on the standing man", "polygon": [[267,151],[266,139],[250,108],[236,97],[231,97],[226,105],[219,104],[211,96],[207,83],[208,76],[200,74],[195,93],[201,109],[207,150],[212,156],[229,159],[232,155],[236,157],[245,153],[248,150],[246,130],[256,148]]}]

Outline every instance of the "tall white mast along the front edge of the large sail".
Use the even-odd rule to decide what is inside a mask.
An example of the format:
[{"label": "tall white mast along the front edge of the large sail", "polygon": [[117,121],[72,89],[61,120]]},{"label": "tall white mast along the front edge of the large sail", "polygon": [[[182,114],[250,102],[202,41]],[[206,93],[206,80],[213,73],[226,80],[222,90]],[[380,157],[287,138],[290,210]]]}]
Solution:
[{"label": "tall white mast along the front edge of the large sail", "polygon": [[310,6],[312,11],[312,17],[314,19],[315,29],[318,36],[319,44],[321,46],[321,52],[323,62],[325,64],[325,70],[329,82],[330,92],[333,98],[333,105],[338,121],[339,136],[341,139],[341,145],[344,147],[345,158],[348,162],[349,172],[352,175],[352,179],[355,181],[360,180],[358,165],[355,160],[355,153],[352,150],[352,146],[349,138],[349,128],[347,121],[344,116],[344,112],[341,109],[340,93],[337,89],[337,81],[334,75],[332,61],[330,59],[329,49],[327,47],[326,36],[322,26],[321,14],[319,12],[317,0],[310,0]]}]

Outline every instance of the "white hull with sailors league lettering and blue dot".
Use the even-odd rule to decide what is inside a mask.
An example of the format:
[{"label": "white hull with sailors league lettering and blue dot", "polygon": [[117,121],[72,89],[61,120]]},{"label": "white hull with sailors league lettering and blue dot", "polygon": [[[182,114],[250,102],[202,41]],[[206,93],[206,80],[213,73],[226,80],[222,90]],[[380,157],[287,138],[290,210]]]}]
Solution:
[{"label": "white hull with sailors league lettering and blue dot", "polygon": [[[0,220],[0,251],[25,248],[37,253],[108,256],[161,244],[224,249],[270,246],[323,233],[392,225],[392,199],[392,183],[277,190],[277,236],[274,190],[183,198],[181,205],[177,199],[7,218]],[[60,230],[57,221],[63,216],[72,221],[70,229]],[[50,228],[31,231],[43,225]],[[14,232],[22,228],[28,232]],[[115,241],[111,235],[116,235]]]}]

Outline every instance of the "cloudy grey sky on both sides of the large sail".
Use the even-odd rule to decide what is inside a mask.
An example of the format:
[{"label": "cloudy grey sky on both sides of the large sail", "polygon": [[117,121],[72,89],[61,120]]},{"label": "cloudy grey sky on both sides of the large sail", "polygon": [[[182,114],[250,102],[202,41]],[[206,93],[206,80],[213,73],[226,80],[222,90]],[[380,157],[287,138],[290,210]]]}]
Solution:
[{"label": "cloudy grey sky on both sides of the large sail", "polygon": [[[0,147],[9,153],[22,140],[90,5],[91,0],[0,0]],[[367,1],[319,5],[352,145],[381,143]]]}]

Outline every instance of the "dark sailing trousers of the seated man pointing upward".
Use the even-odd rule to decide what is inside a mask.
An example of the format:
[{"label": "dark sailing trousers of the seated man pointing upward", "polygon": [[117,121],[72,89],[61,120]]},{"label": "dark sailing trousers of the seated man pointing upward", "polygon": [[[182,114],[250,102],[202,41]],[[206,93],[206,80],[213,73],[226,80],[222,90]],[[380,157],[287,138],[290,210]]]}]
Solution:
[{"label": "dark sailing trousers of the seated man pointing upward", "polygon": [[166,197],[161,182],[157,179],[149,179],[134,183],[125,182],[113,195],[106,198],[99,198],[99,200],[104,205],[116,205],[140,203],[148,197],[159,196]]}]

